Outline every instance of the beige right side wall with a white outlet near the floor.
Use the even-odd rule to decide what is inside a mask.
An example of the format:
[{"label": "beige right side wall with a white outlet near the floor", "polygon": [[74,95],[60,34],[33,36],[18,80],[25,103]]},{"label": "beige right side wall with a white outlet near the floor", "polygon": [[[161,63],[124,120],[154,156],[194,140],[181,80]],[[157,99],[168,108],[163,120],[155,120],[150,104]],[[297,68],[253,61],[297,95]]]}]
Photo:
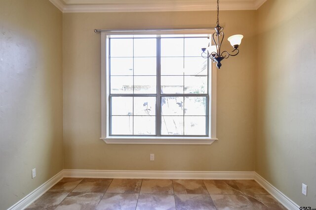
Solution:
[{"label": "beige right side wall with a white outlet near the floor", "polygon": [[[258,10],[256,172],[316,208],[316,0]],[[302,182],[308,196],[301,193]]]}]

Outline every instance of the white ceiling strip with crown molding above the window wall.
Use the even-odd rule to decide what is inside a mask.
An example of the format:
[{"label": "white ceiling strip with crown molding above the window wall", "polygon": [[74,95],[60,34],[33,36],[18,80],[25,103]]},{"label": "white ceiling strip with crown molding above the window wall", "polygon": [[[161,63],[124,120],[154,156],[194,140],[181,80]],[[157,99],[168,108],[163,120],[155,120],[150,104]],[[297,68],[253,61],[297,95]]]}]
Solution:
[{"label": "white ceiling strip with crown molding above the window wall", "polygon": [[[216,10],[216,0],[50,0],[62,12]],[[220,0],[220,10],[256,10],[266,0]]]}]

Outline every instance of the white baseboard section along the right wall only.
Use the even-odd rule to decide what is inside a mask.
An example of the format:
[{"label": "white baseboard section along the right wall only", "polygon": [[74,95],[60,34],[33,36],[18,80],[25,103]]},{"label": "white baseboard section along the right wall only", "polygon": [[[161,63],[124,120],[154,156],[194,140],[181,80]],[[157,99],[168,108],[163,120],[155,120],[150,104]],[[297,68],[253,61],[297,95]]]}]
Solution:
[{"label": "white baseboard section along the right wall only", "polygon": [[254,173],[254,177],[263,188],[265,188],[278,202],[280,202],[285,208],[288,210],[299,210],[300,207],[294,203],[291,199],[289,199],[286,195],[284,195],[281,191],[276,189],[271,183],[267,180],[263,179],[259,174],[256,172]]}]

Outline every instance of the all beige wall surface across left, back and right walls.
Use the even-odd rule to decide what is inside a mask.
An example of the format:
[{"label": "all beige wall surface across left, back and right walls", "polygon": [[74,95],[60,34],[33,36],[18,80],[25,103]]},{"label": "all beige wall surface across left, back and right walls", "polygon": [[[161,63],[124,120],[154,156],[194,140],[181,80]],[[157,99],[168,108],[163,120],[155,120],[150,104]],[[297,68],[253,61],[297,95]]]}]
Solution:
[{"label": "all beige wall surface across left, back and right walls", "polygon": [[268,0],[257,11],[220,12],[226,38],[244,39],[217,75],[219,141],[107,145],[93,30],[210,28],[215,12],[62,14],[48,0],[0,0],[0,209],[62,169],[256,170],[315,207],[315,8],[315,0]]}]

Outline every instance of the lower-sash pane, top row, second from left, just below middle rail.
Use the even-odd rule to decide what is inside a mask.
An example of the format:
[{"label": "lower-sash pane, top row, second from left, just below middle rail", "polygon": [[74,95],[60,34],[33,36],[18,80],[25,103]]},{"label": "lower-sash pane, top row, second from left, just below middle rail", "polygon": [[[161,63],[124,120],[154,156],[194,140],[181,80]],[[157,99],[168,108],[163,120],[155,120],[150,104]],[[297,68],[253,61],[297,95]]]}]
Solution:
[{"label": "lower-sash pane, top row, second from left, just below middle rail", "polygon": [[134,97],[134,115],[156,115],[156,97]]}]

